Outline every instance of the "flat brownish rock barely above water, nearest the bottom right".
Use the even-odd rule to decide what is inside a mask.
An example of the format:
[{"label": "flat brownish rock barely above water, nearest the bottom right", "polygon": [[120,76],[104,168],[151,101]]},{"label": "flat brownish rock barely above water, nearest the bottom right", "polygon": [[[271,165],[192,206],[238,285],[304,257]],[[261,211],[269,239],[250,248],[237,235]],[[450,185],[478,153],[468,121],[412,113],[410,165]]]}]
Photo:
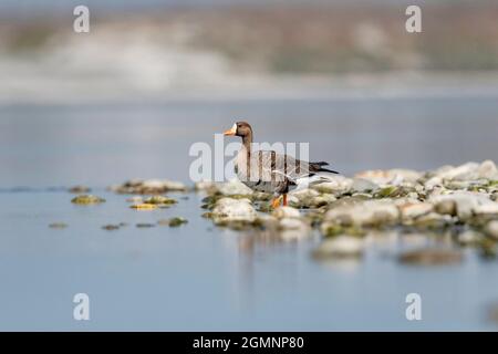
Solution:
[{"label": "flat brownish rock barely above water, nearest the bottom right", "polygon": [[460,251],[442,248],[424,248],[407,251],[398,257],[401,263],[416,266],[455,264],[460,263],[463,259]]}]

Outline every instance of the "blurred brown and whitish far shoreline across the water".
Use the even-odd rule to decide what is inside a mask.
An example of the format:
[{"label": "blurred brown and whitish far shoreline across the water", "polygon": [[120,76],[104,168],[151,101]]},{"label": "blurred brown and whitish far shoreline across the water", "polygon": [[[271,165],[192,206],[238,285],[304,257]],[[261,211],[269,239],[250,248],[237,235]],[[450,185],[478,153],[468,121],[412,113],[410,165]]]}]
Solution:
[{"label": "blurred brown and whitish far shoreline across the water", "polygon": [[11,19],[0,104],[498,95],[498,3],[424,2],[419,34],[405,7],[94,11],[90,33]]}]

